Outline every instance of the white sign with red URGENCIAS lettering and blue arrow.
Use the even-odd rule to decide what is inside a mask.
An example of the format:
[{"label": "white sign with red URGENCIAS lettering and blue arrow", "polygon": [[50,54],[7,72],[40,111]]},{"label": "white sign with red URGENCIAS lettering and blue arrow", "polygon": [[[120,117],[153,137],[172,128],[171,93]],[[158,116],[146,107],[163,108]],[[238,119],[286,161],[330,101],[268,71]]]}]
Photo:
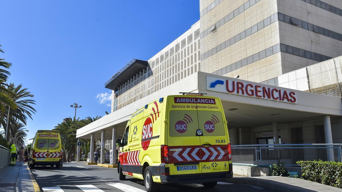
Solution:
[{"label": "white sign with red URGENCIAS lettering and blue arrow", "polygon": [[223,85],[216,84],[215,87],[210,87],[211,82],[215,82],[217,80],[223,79],[207,76],[207,90],[243,95],[248,97],[257,97],[262,99],[271,99],[275,101],[297,103],[296,92],[292,90],[286,90],[283,87],[272,88],[253,83],[241,82],[239,80],[223,80]]}]

